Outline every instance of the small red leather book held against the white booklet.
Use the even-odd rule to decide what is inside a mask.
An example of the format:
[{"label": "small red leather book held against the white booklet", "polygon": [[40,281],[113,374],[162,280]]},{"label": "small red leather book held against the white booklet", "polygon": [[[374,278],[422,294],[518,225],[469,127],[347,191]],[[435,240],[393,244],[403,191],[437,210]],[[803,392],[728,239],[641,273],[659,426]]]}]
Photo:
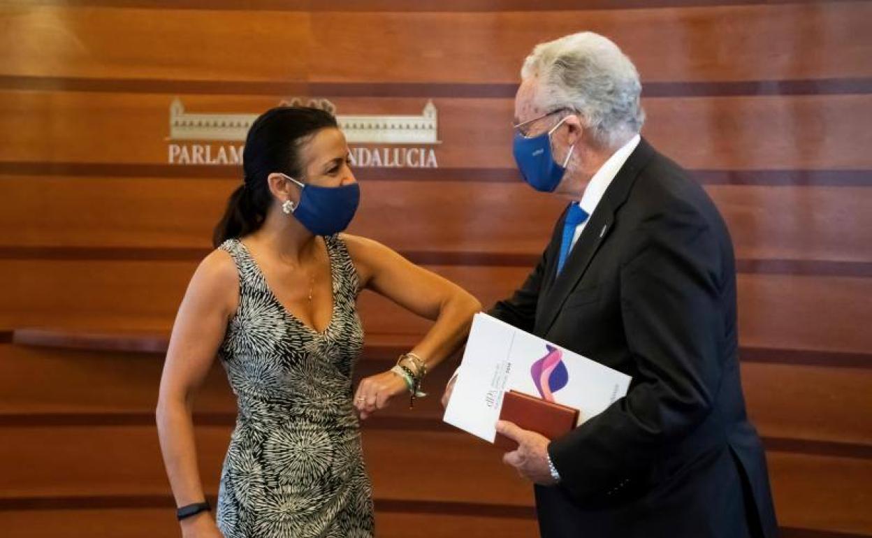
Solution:
[{"label": "small red leather book held against the white booklet", "polygon": [[[578,410],[522,392],[509,391],[502,397],[500,419],[514,422],[524,430],[542,433],[548,439],[557,439],[576,427]],[[511,452],[518,444],[497,433],[494,446]]]}]

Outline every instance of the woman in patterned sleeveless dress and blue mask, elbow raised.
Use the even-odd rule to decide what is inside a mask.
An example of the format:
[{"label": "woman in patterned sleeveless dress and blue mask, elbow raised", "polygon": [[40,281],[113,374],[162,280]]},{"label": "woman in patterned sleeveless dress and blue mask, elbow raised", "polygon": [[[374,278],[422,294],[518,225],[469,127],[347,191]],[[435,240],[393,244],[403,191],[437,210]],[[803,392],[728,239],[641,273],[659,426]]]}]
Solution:
[{"label": "woman in patterned sleeveless dress and blue mask, elbow raised", "polygon": [[[181,303],[160,382],[160,447],[186,537],[371,536],[358,416],[404,392],[467,336],[473,296],[391,249],[339,234],[358,207],[348,146],[328,112],[279,107],[251,126],[244,183]],[[356,310],[372,289],[435,320],[398,365],[358,385]],[[208,514],[194,392],[221,358],[238,418]]]}]

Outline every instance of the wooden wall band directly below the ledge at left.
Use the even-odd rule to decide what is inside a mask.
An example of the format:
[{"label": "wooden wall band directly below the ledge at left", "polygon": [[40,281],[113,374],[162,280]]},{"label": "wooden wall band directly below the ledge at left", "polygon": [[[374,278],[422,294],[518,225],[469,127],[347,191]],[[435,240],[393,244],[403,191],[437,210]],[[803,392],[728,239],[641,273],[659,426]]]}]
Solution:
[{"label": "wooden wall band directly below the ledge at left", "polygon": [[[413,410],[405,398],[398,398],[378,416],[441,419],[439,395],[457,361],[449,359],[427,378],[426,389],[433,398],[419,399]],[[82,413],[149,414],[162,364],[159,354],[0,345],[0,415],[25,420],[31,413],[74,413],[79,424],[87,424]],[[390,364],[364,357],[356,377],[383,371]],[[748,412],[762,436],[872,445],[872,413],[868,412],[872,371],[747,363],[742,365],[742,378]],[[235,414],[235,398],[220,364],[215,364],[198,392],[194,409],[228,418]]]}]

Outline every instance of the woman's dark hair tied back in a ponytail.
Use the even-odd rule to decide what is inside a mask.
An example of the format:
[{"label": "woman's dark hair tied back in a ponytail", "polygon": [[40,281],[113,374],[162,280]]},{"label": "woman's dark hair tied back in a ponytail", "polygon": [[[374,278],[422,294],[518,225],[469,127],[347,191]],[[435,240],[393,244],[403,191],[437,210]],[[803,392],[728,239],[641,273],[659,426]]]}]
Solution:
[{"label": "woman's dark hair tied back in a ponytail", "polygon": [[278,106],[255,119],[242,150],[242,185],[230,194],[227,210],[215,226],[212,236],[215,247],[228,239],[249,235],[262,226],[273,203],[267,176],[281,172],[301,179],[303,144],[310,136],[329,127],[338,127],[330,112],[303,106]]}]

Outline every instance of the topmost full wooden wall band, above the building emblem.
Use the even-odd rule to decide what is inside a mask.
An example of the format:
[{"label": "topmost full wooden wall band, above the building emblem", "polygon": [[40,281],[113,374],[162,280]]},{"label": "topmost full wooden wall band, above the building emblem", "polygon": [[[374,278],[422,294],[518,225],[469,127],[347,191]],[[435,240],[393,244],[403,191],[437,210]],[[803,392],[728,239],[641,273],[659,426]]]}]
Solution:
[{"label": "topmost full wooden wall band, above the building emblem", "polygon": [[[389,74],[402,81],[505,82],[514,81],[536,43],[582,29],[615,39],[649,80],[869,75],[863,21],[872,10],[867,3],[828,3],[555,11],[536,13],[536,24],[523,12],[43,6],[6,8],[3,16],[8,31],[0,44],[12,51],[4,72],[12,74],[284,80],[308,72],[314,80],[381,81]],[[307,66],[308,58],[318,61]]]}]

